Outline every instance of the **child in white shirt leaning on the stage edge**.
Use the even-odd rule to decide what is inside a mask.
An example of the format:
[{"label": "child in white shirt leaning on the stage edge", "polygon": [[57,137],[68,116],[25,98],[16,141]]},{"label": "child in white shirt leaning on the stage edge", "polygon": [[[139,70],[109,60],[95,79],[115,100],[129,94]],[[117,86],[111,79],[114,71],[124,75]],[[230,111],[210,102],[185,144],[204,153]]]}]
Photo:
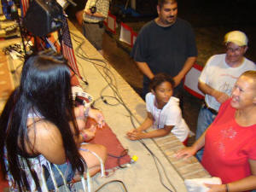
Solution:
[{"label": "child in white shirt leaning on the stage edge", "polygon": [[[150,90],[146,95],[148,116],[143,124],[127,132],[131,140],[143,138],[163,137],[172,131],[184,145],[189,138],[189,127],[182,117],[179,99],[172,96],[174,81],[166,73],[158,73],[150,83]],[[147,131],[153,125],[154,131]]]}]

